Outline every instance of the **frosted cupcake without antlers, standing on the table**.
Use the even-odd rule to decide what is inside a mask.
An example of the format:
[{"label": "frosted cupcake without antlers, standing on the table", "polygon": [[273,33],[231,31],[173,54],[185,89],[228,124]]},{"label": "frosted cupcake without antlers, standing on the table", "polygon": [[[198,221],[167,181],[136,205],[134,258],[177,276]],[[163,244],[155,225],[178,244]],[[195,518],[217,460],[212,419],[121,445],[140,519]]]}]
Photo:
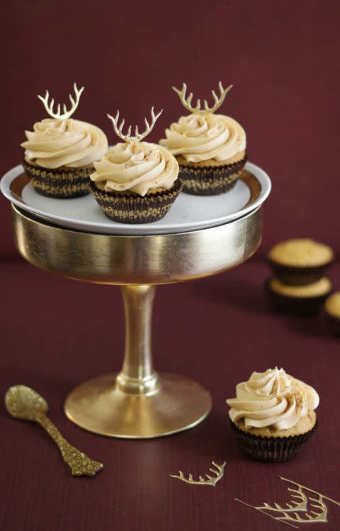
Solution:
[{"label": "frosted cupcake without antlers, standing on the table", "polygon": [[260,461],[295,457],[317,427],[317,391],[277,367],[253,372],[227,404],[239,446]]}]

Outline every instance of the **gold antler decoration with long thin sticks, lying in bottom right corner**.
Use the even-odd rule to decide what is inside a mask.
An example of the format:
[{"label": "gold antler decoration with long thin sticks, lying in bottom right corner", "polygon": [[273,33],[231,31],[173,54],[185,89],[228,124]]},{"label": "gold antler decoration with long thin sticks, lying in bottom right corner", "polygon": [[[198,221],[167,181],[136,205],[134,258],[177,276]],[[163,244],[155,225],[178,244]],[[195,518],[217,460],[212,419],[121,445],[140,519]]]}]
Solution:
[{"label": "gold antler decoration with long thin sticks, lying in bottom right corner", "polygon": [[[313,491],[312,488],[308,488],[304,485],[300,485],[299,483],[296,483],[295,481],[292,481],[290,479],[286,479],[281,476],[279,477],[283,481],[288,481],[288,483],[297,486],[297,488],[288,487],[288,491],[294,493],[290,495],[292,498],[293,497],[297,498],[300,501],[295,501],[295,500],[291,501],[291,503],[286,503],[285,504],[286,506],[283,507],[282,505],[278,505],[278,503],[274,503],[274,506],[269,505],[268,503],[263,503],[263,505],[254,506],[254,505],[249,505],[249,503],[241,501],[237,498],[235,498],[235,500],[241,503],[244,503],[244,505],[248,505],[249,507],[252,507],[253,509],[259,510],[260,513],[264,513],[266,516],[269,516],[270,518],[273,518],[274,520],[278,520],[280,522],[283,522],[295,528],[297,527],[289,522],[295,522],[295,523],[300,523],[300,524],[310,523],[310,522],[320,522],[320,523],[328,522],[327,505],[324,502],[324,500],[328,500],[328,501],[331,501],[332,503],[336,503],[336,505],[340,505],[339,502],[332,500],[331,498],[328,498],[327,496],[324,496],[322,493]],[[317,498],[314,498],[312,496],[306,496],[305,492],[303,492],[304,490],[316,494]],[[309,503],[308,505],[318,510],[308,510],[307,502],[314,502],[314,503]],[[266,511],[270,512],[271,514],[266,513]],[[273,516],[273,514],[275,513],[280,513],[280,515]]]}]

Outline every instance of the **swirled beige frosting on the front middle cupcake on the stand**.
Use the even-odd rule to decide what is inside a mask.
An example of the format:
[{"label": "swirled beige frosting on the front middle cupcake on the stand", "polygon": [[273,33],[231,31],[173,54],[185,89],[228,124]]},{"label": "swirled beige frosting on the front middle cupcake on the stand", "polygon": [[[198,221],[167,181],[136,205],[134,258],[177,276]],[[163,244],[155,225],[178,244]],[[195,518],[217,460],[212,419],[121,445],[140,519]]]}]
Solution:
[{"label": "swirled beige frosting on the front middle cupcake on the stand", "polygon": [[149,142],[118,143],[94,162],[90,175],[99,189],[147,192],[169,189],[179,174],[179,164],[169,151]]}]

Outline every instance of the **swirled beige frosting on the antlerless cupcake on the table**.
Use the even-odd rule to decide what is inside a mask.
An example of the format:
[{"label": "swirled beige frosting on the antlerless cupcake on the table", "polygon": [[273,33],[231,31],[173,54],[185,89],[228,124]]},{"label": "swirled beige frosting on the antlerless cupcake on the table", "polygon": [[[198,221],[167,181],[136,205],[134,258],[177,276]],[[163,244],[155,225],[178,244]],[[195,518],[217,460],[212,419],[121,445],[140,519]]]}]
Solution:
[{"label": "swirled beige frosting on the antlerless cupcake on the table", "polygon": [[236,398],[227,400],[229,417],[245,427],[286,430],[319,405],[311,386],[286,374],[283,369],[253,372],[248,381],[236,386]]}]

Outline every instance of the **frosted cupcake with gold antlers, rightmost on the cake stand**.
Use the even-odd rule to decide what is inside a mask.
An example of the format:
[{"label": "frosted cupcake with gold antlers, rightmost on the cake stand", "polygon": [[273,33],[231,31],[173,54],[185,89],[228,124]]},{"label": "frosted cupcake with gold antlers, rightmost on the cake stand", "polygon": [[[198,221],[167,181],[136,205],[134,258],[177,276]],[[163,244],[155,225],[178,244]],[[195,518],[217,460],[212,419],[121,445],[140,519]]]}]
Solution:
[{"label": "frosted cupcake with gold antlers, rightmost on the cake stand", "polygon": [[246,133],[239,123],[229,116],[214,114],[232,88],[223,89],[219,83],[220,97],[215,91],[215,105],[200,108],[191,106],[193,94],[186,99],[186,84],[182,90],[173,87],[183,106],[191,113],[181,116],[165,130],[166,138],[159,144],[166,147],[179,162],[179,178],[187,194],[212,196],[232,189],[246,163]]}]

